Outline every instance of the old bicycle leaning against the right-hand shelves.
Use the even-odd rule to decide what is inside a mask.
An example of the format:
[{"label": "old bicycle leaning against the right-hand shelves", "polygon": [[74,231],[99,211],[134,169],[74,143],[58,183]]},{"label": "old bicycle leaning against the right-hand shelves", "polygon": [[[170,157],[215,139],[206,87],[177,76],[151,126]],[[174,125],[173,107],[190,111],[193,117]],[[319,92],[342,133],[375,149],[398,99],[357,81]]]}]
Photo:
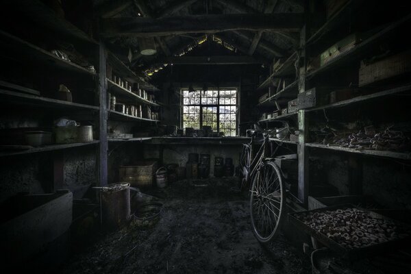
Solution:
[{"label": "old bicycle leaning against the right-hand shelves", "polygon": [[[267,243],[275,238],[282,225],[286,207],[286,187],[281,169],[271,158],[271,132],[264,131],[258,125],[255,125],[255,128],[251,134],[251,142],[243,144],[242,147],[240,188],[249,188],[253,234],[259,242]],[[256,145],[256,142],[261,142],[261,145],[253,157],[253,145]]]}]

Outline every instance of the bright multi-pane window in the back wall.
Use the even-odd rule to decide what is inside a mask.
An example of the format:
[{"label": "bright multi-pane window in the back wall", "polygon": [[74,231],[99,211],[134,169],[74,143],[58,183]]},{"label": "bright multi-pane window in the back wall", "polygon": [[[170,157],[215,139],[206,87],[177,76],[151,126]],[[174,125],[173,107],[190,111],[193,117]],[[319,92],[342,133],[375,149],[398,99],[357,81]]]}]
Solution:
[{"label": "bright multi-pane window in the back wall", "polygon": [[183,127],[209,125],[214,132],[236,136],[237,90],[182,90],[182,96]]}]

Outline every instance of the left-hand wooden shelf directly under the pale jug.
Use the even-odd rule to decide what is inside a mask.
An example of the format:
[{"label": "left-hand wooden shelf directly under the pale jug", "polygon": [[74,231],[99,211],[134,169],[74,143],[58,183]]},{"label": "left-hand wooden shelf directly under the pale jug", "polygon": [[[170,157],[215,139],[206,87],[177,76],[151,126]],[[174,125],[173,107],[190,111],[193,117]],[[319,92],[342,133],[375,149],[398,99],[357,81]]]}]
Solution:
[{"label": "left-hand wooden shelf directly under the pale jug", "polygon": [[72,109],[72,110],[99,110],[95,105],[85,105],[82,103],[71,103],[57,99],[46,97],[39,97],[36,95],[28,95],[21,92],[14,92],[10,90],[3,90],[0,88],[1,101],[8,101],[18,105],[38,105],[42,108],[58,108],[58,109]]}]

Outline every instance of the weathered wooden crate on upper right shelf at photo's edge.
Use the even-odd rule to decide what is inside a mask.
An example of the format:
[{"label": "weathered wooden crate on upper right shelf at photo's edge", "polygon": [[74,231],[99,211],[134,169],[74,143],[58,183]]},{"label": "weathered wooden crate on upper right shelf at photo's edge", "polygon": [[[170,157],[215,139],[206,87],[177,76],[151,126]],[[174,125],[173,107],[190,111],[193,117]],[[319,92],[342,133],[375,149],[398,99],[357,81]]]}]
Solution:
[{"label": "weathered wooden crate on upper right shelf at photo's edge", "polygon": [[403,51],[373,64],[364,64],[364,62],[361,62],[358,86],[365,86],[410,72],[411,50]]}]

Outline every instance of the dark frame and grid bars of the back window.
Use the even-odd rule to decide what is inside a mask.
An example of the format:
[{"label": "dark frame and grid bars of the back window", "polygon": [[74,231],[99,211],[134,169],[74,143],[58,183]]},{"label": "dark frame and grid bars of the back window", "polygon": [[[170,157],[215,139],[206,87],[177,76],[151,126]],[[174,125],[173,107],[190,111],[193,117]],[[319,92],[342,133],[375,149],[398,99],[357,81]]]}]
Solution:
[{"label": "dark frame and grid bars of the back window", "polygon": [[[238,136],[238,119],[239,119],[239,108],[240,108],[240,101],[239,101],[239,99],[240,99],[240,97],[238,96],[238,88],[230,88],[230,87],[228,87],[228,88],[216,88],[215,90],[217,90],[217,103],[216,104],[203,104],[202,103],[202,99],[203,99],[203,97],[202,97],[202,93],[204,92],[204,91],[210,91],[210,90],[214,90],[214,89],[210,89],[210,90],[202,90],[202,89],[198,89],[198,90],[196,90],[196,91],[199,91],[200,92],[200,97],[199,97],[199,103],[198,104],[196,104],[196,103],[189,103],[189,104],[184,104],[184,91],[185,90],[188,90],[188,88],[182,88],[181,90],[180,90],[180,127],[183,127],[184,126],[184,107],[185,106],[188,106],[188,107],[190,107],[190,106],[195,106],[195,107],[199,107],[199,118],[200,118],[200,120],[199,120],[199,124],[200,124],[200,128],[202,128],[203,127],[203,107],[210,107],[210,108],[216,108],[217,109],[217,113],[216,113],[216,116],[217,116],[217,120],[216,120],[216,123],[217,123],[217,132],[220,132],[220,107],[224,107],[224,106],[235,106],[236,107],[236,128],[235,128],[235,132],[236,132],[236,134],[235,134],[235,136]],[[220,104],[220,91],[225,91],[225,90],[235,90],[236,91],[236,104],[234,104],[234,105],[232,105],[232,104]],[[235,137],[235,136],[232,136],[232,137]]]}]

